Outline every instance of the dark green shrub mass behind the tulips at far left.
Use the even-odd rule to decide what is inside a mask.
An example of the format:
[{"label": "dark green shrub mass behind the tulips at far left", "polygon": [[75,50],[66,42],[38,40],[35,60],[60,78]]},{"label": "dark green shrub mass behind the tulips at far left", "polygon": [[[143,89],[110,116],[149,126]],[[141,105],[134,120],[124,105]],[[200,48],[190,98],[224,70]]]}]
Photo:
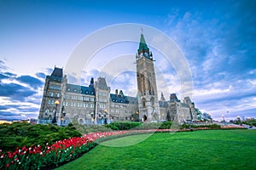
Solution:
[{"label": "dark green shrub mass behind the tulips at far left", "polygon": [[3,151],[13,151],[15,147],[53,144],[61,139],[79,136],[81,136],[81,133],[75,128],[73,129],[73,127],[14,122],[9,125],[0,126],[0,149]]}]

